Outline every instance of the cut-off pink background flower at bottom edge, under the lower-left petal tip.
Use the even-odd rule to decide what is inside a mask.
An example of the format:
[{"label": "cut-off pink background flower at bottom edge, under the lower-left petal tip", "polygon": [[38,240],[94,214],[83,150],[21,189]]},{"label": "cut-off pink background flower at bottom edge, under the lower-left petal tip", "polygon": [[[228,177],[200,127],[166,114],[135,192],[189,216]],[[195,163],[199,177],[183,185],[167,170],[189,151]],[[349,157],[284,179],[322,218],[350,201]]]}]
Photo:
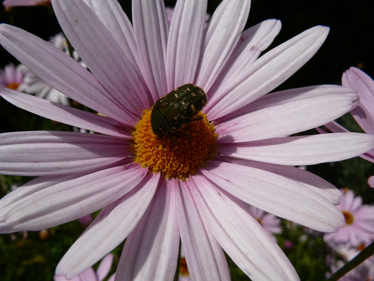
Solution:
[{"label": "cut-off pink background flower at bottom edge, under the lower-left petal tip", "polygon": [[[105,277],[107,277],[110,271],[110,268],[112,267],[112,263],[113,263],[113,254],[107,254],[104,257],[104,259],[102,259],[96,272],[93,268],[88,268],[85,271],[83,271],[81,274],[71,279],[67,279],[65,276],[55,275],[54,280],[55,281],[102,281],[104,280]],[[109,277],[108,281],[114,281],[115,275],[116,274],[113,274],[111,277]]]}]

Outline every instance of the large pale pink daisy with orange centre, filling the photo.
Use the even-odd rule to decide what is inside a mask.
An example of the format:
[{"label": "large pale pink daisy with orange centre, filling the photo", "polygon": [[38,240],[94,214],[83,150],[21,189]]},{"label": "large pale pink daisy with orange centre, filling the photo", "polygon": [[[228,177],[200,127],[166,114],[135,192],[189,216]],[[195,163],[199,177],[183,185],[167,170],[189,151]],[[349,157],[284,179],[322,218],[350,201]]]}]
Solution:
[{"label": "large pale pink daisy with orange centre, filling the photo", "polygon": [[[178,0],[169,28],[161,0],[134,1],[132,24],[115,0],[53,0],[90,71],[38,37],[0,26],[1,44],[31,71],[109,117],[1,89],[20,108],[99,133],[0,135],[1,173],[40,176],[1,199],[1,232],[45,229],[102,208],[56,274],[74,277],[126,239],[118,280],[172,280],[181,239],[192,280],[229,280],[224,251],[252,280],[298,280],[245,203],[323,232],[344,224],[334,206],[340,191],[289,165],[354,157],[373,148],[374,137],[287,135],[349,112],[355,90],[267,94],[315,54],[328,28],[310,28],[259,57],[280,22],[242,32],[250,1],[224,0],[204,28],[206,4]],[[203,113],[173,142],[158,138],[151,107],[186,83],[207,93]]]}]

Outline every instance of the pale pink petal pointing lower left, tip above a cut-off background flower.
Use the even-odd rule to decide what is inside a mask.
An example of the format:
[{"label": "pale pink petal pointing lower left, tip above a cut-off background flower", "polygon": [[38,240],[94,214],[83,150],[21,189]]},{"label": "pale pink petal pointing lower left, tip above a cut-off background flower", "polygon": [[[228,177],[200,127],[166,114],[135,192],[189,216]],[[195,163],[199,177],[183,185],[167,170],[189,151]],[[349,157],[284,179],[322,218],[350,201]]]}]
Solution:
[{"label": "pale pink petal pointing lower left, tip above a cut-off background flower", "polygon": [[137,187],[102,208],[100,214],[62,257],[56,274],[71,278],[119,245],[132,232],[147,209],[159,178],[160,173],[148,173]]}]

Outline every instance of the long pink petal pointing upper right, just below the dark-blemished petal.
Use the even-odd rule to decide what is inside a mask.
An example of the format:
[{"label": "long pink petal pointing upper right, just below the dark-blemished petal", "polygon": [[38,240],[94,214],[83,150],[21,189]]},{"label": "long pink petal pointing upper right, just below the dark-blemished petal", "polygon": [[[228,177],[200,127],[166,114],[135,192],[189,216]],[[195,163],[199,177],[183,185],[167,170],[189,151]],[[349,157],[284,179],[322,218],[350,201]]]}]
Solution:
[{"label": "long pink petal pointing upper right, just below the dark-blemished petal", "polygon": [[321,47],[329,28],[316,26],[270,50],[217,90],[218,102],[207,111],[214,120],[230,114],[282,84]]}]

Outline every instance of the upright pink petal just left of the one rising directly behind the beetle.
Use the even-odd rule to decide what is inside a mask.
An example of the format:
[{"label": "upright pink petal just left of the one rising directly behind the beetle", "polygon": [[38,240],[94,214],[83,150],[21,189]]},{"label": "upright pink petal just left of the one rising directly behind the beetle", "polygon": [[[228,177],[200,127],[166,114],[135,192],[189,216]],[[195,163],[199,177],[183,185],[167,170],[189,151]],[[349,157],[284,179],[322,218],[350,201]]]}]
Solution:
[{"label": "upright pink petal just left of the one rising directly behind the beetle", "polygon": [[168,93],[165,61],[169,30],[164,2],[162,0],[133,1],[132,24],[139,52],[138,64],[156,102]]}]

